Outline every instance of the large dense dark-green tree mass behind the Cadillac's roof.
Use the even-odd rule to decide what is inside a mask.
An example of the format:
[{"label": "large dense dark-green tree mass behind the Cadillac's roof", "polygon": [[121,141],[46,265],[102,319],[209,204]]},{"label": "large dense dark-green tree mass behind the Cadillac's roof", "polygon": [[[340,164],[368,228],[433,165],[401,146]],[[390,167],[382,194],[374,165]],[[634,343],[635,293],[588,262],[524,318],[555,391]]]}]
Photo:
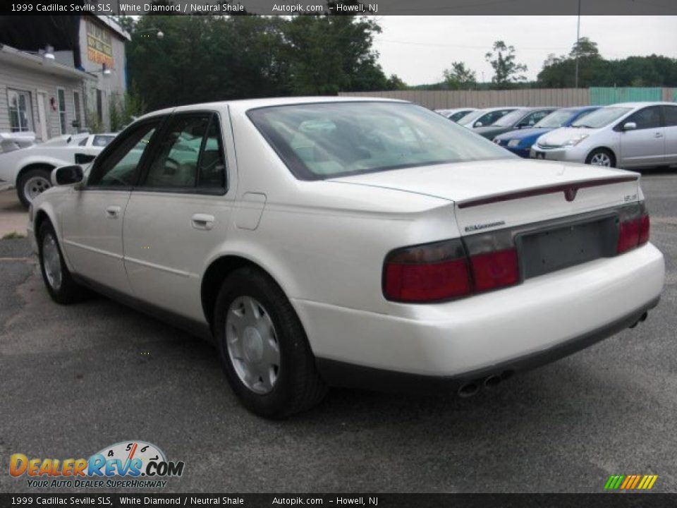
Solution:
[{"label": "large dense dark-green tree mass behind the Cadillac's roof", "polygon": [[178,104],[405,86],[386,78],[367,16],[141,16],[128,75],[149,110]]}]

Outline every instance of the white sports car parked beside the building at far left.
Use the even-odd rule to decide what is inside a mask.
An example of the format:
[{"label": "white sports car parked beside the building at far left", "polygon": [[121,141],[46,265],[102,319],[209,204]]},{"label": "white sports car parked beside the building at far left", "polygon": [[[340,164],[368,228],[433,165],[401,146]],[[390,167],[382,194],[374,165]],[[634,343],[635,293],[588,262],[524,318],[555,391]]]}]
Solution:
[{"label": "white sports car parked beside the building at far left", "polygon": [[115,134],[67,134],[19,150],[0,153],[0,180],[16,187],[28,207],[39,193],[51,187],[51,171],[59,166],[87,164]]}]

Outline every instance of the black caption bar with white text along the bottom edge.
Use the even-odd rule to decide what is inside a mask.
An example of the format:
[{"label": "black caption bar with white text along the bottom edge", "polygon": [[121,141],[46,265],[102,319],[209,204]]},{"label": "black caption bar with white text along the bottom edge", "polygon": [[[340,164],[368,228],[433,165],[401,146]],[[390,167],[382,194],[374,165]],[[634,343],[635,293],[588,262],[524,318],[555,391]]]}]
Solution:
[{"label": "black caption bar with white text along the bottom edge", "polygon": [[2,508],[88,507],[630,508],[677,506],[676,494],[0,494]]}]

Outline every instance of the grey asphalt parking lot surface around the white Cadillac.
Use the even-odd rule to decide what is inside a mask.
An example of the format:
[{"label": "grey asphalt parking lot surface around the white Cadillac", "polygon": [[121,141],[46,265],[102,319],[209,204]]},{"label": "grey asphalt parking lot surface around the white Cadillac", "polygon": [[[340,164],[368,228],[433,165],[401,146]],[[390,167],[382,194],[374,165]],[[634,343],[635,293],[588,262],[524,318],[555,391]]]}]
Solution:
[{"label": "grey asphalt parking lot surface around the white Cadillac", "polygon": [[105,298],[58,306],[28,241],[0,241],[0,491],[31,491],[11,454],[145,440],[185,462],[161,492],[676,492],[677,171],[643,188],[667,275],[642,325],[471,399],[334,389],[282,422],[238,404],[209,344]]}]

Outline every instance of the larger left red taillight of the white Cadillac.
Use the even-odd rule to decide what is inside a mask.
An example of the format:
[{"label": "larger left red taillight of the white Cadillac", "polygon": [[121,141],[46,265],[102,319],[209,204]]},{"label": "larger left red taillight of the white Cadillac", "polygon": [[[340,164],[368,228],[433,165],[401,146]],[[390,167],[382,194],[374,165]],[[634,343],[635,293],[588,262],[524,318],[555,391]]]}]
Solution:
[{"label": "larger left red taillight of the white Cadillac", "polygon": [[519,282],[517,251],[468,256],[460,240],[394,250],[384,263],[383,292],[393,301],[451,300]]}]

